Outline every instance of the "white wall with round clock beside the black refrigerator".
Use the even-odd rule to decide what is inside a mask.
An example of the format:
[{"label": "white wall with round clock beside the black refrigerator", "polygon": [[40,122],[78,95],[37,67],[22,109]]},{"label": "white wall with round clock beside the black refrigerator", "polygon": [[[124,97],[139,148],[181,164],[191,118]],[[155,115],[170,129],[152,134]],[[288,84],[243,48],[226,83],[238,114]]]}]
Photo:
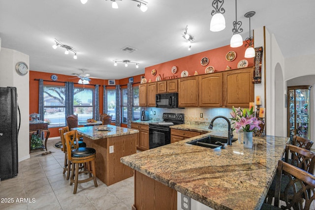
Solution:
[{"label": "white wall with round clock beside the black refrigerator", "polygon": [[30,82],[29,74],[20,76],[16,70],[17,62],[24,61],[29,63],[29,56],[21,52],[1,48],[0,51],[0,87],[16,87],[18,93],[18,104],[21,111],[21,127],[18,137],[18,157],[19,161],[30,158]]}]

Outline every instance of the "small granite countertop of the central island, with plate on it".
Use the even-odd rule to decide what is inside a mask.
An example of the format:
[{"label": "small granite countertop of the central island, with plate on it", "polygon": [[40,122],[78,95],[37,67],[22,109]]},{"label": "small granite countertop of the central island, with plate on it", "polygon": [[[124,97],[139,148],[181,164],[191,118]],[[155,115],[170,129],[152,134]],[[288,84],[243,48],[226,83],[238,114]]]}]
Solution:
[{"label": "small granite countertop of the central island, with plate on it", "polygon": [[[108,131],[105,130],[99,130],[99,129],[106,129],[108,128]],[[88,137],[90,139],[103,139],[103,138],[109,138],[109,137],[115,137],[115,136],[123,136],[133,133],[138,133],[138,130],[129,129],[126,127],[119,127],[115,125],[95,125],[95,126],[86,126],[86,127],[76,127],[73,128],[78,131],[78,134],[81,134],[82,136]]]}]

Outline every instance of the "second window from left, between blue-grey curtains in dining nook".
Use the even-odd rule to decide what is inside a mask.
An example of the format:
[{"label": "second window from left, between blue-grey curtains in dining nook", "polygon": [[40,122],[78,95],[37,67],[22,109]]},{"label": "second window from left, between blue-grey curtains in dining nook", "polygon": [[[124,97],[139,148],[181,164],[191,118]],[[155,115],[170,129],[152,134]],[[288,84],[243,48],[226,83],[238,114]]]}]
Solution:
[{"label": "second window from left, between blue-grey curtains in dining nook", "polygon": [[73,114],[78,115],[79,121],[93,118],[94,113],[94,89],[74,88]]}]

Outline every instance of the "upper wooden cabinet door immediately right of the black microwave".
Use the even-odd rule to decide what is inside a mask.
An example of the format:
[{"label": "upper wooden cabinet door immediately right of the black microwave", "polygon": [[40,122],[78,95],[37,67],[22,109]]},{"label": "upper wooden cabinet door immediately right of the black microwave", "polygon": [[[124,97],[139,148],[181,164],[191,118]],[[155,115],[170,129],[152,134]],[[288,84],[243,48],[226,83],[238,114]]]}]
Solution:
[{"label": "upper wooden cabinet door immediately right of the black microwave", "polygon": [[178,107],[197,107],[198,77],[181,78],[178,83]]}]

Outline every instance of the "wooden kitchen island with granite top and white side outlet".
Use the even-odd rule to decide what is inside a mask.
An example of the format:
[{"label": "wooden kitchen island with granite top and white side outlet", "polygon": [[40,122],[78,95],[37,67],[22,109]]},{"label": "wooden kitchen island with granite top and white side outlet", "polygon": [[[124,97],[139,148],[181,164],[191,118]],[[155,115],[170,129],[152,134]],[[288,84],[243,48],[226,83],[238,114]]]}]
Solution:
[{"label": "wooden kitchen island with granite top and white side outlet", "polygon": [[138,130],[114,125],[73,128],[83,136],[87,147],[96,150],[96,177],[107,186],[133,176],[133,170],[120,162],[120,158],[136,153]]}]

